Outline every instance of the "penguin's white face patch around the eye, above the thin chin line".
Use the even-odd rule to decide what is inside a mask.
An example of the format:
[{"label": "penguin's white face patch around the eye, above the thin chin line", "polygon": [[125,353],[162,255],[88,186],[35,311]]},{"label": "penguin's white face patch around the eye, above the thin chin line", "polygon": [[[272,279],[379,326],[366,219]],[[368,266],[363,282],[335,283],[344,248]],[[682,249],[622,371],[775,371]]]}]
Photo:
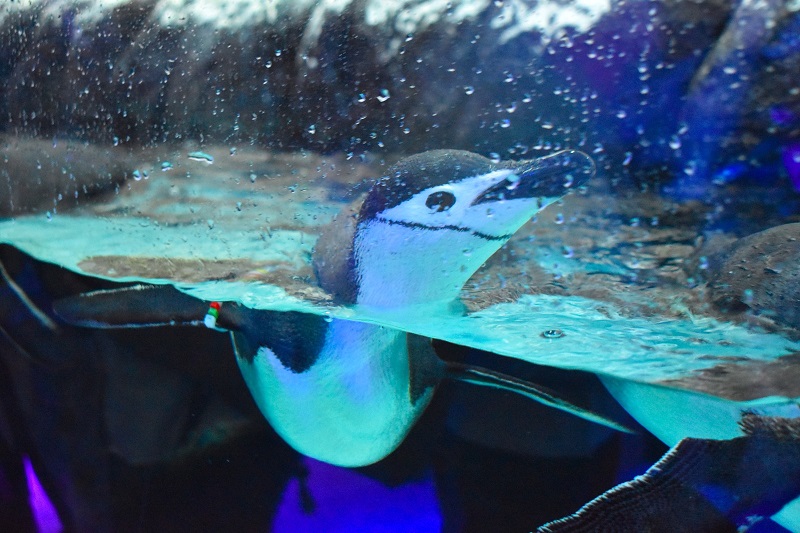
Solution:
[{"label": "penguin's white face patch around the eye, above the thin chin line", "polygon": [[487,191],[504,183],[512,191],[519,181],[512,170],[500,169],[436,185],[378,213],[375,219],[421,230],[450,230],[486,240],[506,240],[537,211],[558,199],[503,199],[502,195],[491,201],[482,199]]}]

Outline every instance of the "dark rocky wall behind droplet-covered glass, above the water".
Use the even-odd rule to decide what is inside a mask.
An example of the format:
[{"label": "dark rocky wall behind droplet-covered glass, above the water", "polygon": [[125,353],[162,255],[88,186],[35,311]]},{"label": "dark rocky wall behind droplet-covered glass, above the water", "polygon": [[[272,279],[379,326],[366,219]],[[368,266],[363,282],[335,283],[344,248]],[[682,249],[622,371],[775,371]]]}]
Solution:
[{"label": "dark rocky wall behind droplet-covered glass, above the water", "polygon": [[87,0],[0,8],[0,129],[365,157],[594,154],[800,187],[795,3]]}]

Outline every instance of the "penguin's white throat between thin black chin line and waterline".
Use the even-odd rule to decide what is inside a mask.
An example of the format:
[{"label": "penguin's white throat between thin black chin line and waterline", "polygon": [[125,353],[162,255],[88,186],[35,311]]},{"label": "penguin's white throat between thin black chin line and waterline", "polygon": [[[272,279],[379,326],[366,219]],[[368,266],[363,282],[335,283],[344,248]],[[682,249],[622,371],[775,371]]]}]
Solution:
[{"label": "penguin's white throat between thin black chin line and waterline", "polygon": [[353,240],[356,303],[384,308],[450,304],[504,242],[379,220],[359,224]]}]

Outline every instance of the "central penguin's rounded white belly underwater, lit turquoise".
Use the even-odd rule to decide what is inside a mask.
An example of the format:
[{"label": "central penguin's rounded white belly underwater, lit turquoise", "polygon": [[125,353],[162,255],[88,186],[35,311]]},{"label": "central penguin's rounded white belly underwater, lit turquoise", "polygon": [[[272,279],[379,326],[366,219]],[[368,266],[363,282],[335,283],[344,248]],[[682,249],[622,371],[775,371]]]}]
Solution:
[{"label": "central penguin's rounded white belly underwater, lit turquoise", "polygon": [[266,347],[238,359],[256,403],[296,450],[340,466],[380,460],[430,400],[412,402],[404,332],[334,320],[315,364],[297,373]]}]

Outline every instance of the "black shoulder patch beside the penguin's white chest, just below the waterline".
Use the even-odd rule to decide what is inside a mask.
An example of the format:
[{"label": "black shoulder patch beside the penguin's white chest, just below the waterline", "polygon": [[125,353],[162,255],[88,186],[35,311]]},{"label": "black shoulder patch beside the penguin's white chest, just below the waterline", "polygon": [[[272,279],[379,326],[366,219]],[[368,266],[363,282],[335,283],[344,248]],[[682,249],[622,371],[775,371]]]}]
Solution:
[{"label": "black shoulder patch beside the penguin's white chest, just below the waterline", "polygon": [[318,315],[248,310],[233,342],[240,359],[252,363],[259,348],[266,347],[286,369],[300,374],[319,359],[327,331],[328,322]]}]

